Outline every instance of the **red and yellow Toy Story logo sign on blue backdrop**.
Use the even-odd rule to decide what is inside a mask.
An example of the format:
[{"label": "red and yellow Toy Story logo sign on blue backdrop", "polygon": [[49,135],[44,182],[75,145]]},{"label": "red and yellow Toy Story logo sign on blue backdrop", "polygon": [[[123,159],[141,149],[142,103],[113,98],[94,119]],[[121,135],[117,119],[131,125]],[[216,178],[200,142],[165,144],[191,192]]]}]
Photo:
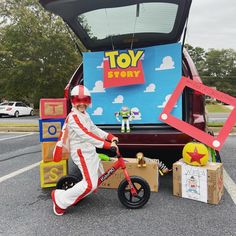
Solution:
[{"label": "red and yellow Toy Story logo sign on blue backdrop", "polygon": [[109,51],[104,53],[104,88],[143,84],[143,50]]}]

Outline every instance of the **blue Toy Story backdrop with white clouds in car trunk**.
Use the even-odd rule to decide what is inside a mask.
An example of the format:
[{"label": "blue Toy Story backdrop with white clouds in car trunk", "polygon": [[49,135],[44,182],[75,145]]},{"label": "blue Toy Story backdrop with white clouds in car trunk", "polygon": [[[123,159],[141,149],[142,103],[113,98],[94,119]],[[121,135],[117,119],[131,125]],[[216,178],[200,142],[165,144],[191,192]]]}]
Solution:
[{"label": "blue Toy Story backdrop with white clouds in car trunk", "polygon": [[[84,85],[90,90],[92,96],[92,106],[87,111],[94,123],[120,124],[115,114],[122,107],[131,109],[131,124],[163,123],[159,116],[182,75],[181,44],[175,43],[109,53],[111,52],[83,54]],[[120,55],[126,57],[126,61],[122,60]],[[128,56],[130,59],[127,59]],[[130,67],[121,68],[121,66],[125,67],[125,64],[122,63],[127,63],[127,65],[133,63],[133,70],[136,72],[132,72]],[[117,70],[117,66],[119,70]],[[115,70],[119,71],[119,74],[115,73]],[[125,84],[115,84],[115,87],[112,82],[112,85],[106,84],[105,86],[104,75],[107,76],[107,80],[116,80],[116,76],[119,75],[120,77],[124,76],[120,79],[138,80],[139,82],[135,81],[134,84],[129,85],[126,82]],[[179,97],[171,114],[182,119],[182,96]]]}]

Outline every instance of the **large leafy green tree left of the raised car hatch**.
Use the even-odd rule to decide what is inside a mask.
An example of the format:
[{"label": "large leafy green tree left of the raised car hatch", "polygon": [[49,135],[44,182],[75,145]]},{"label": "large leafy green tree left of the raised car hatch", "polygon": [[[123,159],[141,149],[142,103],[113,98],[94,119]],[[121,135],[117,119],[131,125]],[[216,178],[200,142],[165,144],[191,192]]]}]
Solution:
[{"label": "large leafy green tree left of the raised car hatch", "polygon": [[81,57],[62,20],[33,0],[0,8],[0,98],[37,107],[40,98],[63,97]]}]

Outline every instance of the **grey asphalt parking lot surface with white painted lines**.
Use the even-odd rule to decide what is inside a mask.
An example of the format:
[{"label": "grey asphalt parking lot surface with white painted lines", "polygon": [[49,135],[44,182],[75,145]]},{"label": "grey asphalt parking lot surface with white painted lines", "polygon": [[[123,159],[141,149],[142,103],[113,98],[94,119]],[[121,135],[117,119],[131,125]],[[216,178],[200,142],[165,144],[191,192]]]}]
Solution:
[{"label": "grey asphalt parking lot surface with white painted lines", "polygon": [[[0,133],[1,177],[41,160],[38,134]],[[17,138],[18,137],[18,138]],[[222,154],[225,169],[236,182],[236,136]],[[70,172],[75,168],[70,163]],[[100,189],[63,217],[52,213],[50,189],[39,185],[39,167],[0,182],[0,235],[235,235],[236,207],[225,191],[219,205],[172,195],[172,176],[161,178],[139,210],[125,209],[115,190]]]}]

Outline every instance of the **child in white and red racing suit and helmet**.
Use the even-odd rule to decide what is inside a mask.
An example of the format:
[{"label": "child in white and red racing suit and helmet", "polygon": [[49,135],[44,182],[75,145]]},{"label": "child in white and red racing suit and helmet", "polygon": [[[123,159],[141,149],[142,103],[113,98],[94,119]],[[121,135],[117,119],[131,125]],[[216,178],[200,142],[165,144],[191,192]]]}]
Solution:
[{"label": "child in white and red racing suit and helmet", "polygon": [[53,211],[56,215],[63,215],[69,206],[75,205],[97,189],[101,163],[96,147],[117,148],[114,141],[118,141],[117,137],[99,129],[90,119],[86,109],[91,104],[91,96],[86,87],[77,85],[72,89],[71,103],[73,108],[65,120],[53,158],[56,162],[60,161],[62,149],[70,148],[71,158],[80,169],[83,179],[70,189],[52,191]]}]

